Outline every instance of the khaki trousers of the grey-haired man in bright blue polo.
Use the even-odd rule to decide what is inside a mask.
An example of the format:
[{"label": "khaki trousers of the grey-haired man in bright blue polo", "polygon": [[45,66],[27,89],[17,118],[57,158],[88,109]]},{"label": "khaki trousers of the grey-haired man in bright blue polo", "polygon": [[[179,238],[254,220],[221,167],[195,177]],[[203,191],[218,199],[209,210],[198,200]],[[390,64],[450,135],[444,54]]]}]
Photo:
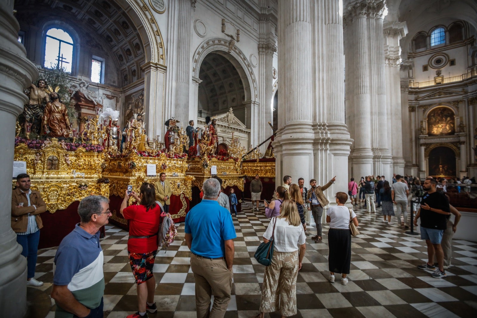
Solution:
[{"label": "khaki trousers of the grey-haired man in bright blue polo", "polygon": [[[190,268],[196,281],[197,318],[223,318],[230,302],[233,278],[225,259],[202,258],[191,253]],[[214,304],[209,312],[211,295],[214,295]]]}]

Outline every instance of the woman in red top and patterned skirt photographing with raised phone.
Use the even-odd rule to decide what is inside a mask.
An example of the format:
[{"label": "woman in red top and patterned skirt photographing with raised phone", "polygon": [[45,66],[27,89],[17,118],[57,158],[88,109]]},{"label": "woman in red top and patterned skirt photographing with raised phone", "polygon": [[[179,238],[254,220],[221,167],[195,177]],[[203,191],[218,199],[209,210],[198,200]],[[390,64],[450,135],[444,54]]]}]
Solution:
[{"label": "woman in red top and patterned skirt photographing with raised phone", "polygon": [[[135,198],[139,204],[127,206],[129,196]],[[156,279],[152,269],[157,253],[157,232],[161,219],[161,207],[156,203],[154,184],[144,182],[139,196],[134,191],[130,194],[126,191],[120,212],[124,219],[129,220],[127,253],[137,284],[139,306],[139,311],[127,318],[147,317],[146,310],[151,313],[157,311],[156,303],[154,303]]]}]

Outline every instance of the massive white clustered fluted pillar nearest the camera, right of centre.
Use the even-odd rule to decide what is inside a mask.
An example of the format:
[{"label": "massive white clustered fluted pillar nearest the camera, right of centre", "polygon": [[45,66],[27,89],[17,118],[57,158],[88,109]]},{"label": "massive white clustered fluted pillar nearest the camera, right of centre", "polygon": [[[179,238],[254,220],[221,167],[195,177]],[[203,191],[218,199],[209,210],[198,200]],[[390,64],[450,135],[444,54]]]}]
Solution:
[{"label": "massive white clustered fluted pillar nearest the camera, right of centre", "polygon": [[[345,125],[341,0],[279,1],[280,95],[276,183],[283,175],[346,191],[351,140]],[[371,157],[371,156],[370,156]],[[333,204],[333,203],[332,203]]]}]

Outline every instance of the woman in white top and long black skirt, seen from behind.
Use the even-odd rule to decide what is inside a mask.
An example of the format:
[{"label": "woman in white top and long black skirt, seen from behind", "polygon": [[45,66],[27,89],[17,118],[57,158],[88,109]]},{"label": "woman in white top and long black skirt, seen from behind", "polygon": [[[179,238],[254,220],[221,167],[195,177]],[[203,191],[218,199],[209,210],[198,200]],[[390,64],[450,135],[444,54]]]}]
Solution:
[{"label": "woman in white top and long black skirt, seen from behind", "polygon": [[[352,209],[344,206],[348,200],[348,195],[344,192],[337,192],[335,195],[336,206],[332,206],[326,211],[326,222],[330,223],[328,232],[328,265],[330,269],[329,280],[334,283],[334,273],[341,273],[342,285],[348,284],[346,275],[350,273],[351,263],[351,232],[350,222],[358,226],[358,219]],[[350,216],[351,212],[351,216]]]}]

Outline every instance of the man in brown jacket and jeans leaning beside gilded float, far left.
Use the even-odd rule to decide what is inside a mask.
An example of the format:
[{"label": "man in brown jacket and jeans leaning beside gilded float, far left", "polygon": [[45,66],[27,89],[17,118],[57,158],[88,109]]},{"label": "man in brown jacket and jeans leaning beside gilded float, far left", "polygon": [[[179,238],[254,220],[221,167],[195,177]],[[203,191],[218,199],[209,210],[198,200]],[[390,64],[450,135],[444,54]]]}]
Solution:
[{"label": "man in brown jacket and jeans leaning beside gilded float, far left", "polygon": [[17,233],[17,242],[23,247],[21,254],[27,258],[27,285],[41,286],[34,278],[38,242],[40,241],[40,213],[46,211],[46,204],[38,191],[30,189],[30,176],[17,176],[17,188],[11,194],[11,228]]}]

